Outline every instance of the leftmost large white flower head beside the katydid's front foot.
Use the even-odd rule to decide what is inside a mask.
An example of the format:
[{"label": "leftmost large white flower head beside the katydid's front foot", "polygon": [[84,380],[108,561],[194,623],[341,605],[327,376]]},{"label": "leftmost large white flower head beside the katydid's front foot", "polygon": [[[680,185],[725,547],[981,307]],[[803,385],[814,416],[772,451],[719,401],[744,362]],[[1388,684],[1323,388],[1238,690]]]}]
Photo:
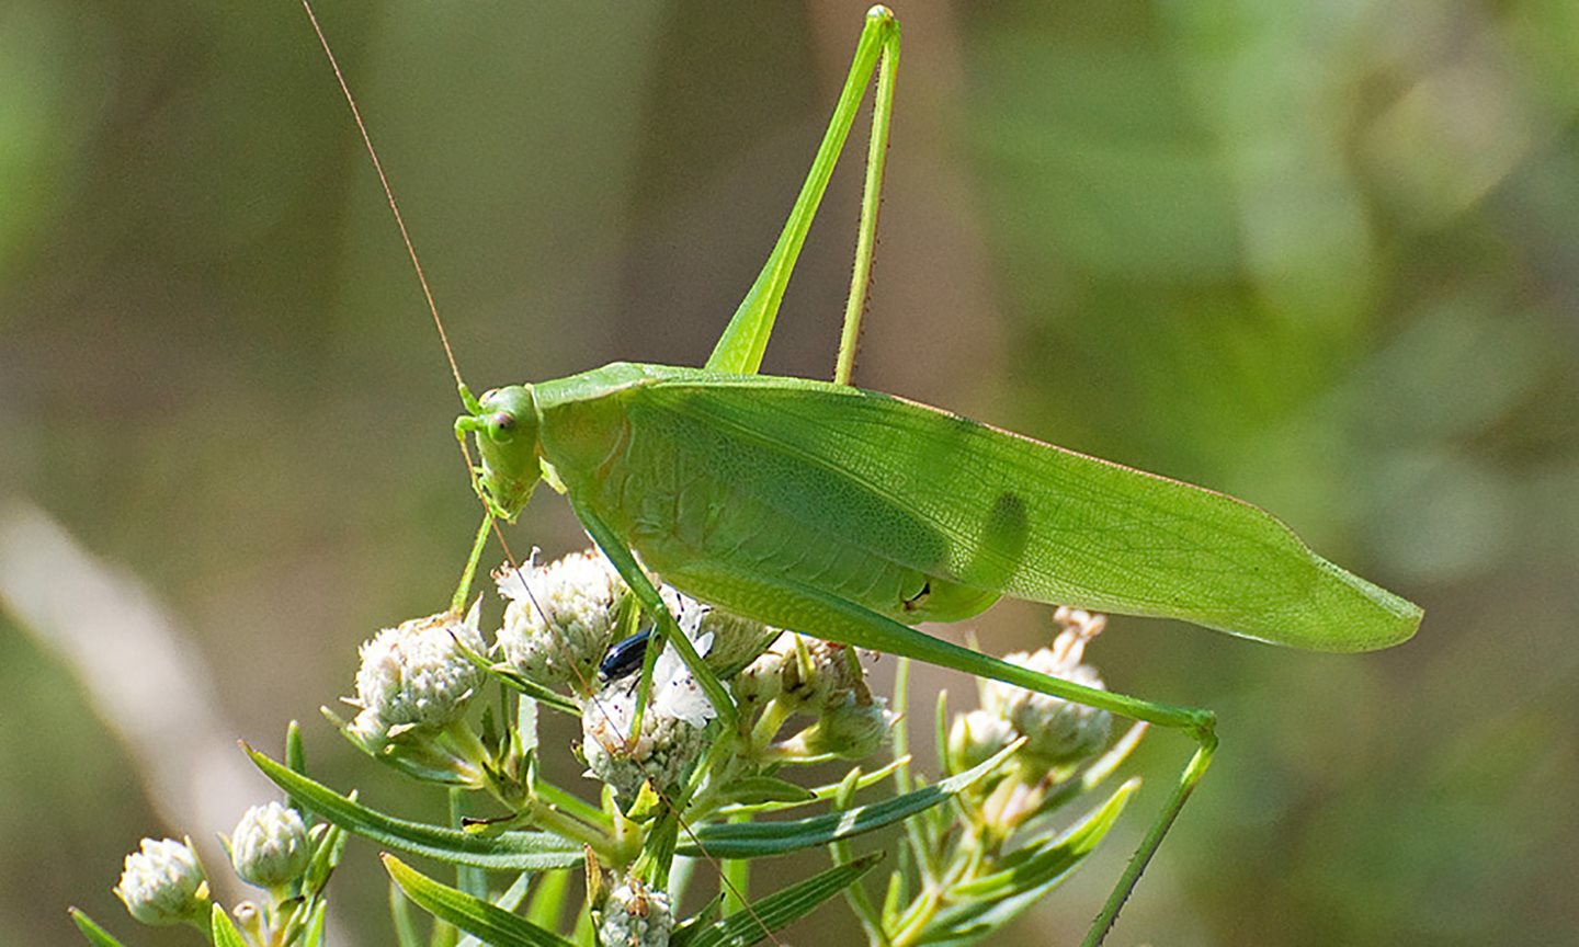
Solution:
[{"label": "leftmost large white flower head beside the katydid's front foot", "polygon": [[412,619],[363,642],[355,736],[374,745],[401,729],[442,728],[459,718],[483,672],[456,649],[456,641],[483,650],[475,611],[464,620],[453,612]]}]

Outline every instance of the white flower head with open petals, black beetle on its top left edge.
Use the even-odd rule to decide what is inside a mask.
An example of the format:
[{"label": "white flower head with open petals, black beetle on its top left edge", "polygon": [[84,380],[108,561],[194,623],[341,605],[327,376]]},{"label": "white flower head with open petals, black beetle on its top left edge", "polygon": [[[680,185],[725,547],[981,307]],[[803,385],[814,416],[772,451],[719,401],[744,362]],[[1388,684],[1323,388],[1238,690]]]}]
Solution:
[{"label": "white flower head with open petals, black beetle on its top left edge", "polygon": [[[712,634],[699,631],[704,609],[679,616],[681,630],[706,655]],[[652,668],[652,690],[641,715],[641,732],[630,737],[641,676],[608,682],[581,704],[581,753],[591,775],[616,795],[633,799],[647,780],[665,791],[677,783],[707,745],[707,721],[717,717],[673,644]]]}]

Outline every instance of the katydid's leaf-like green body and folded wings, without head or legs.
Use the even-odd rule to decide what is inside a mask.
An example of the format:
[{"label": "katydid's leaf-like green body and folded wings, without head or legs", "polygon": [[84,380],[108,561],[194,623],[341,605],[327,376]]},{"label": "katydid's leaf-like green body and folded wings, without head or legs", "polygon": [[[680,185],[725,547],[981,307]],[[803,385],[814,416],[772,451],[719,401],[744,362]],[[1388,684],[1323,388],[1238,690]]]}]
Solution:
[{"label": "katydid's leaf-like green body and folded wings, without head or legs", "polygon": [[889,395],[628,363],[531,390],[572,499],[750,617],[786,587],[905,623],[1006,593],[1318,650],[1420,620],[1257,507]]}]

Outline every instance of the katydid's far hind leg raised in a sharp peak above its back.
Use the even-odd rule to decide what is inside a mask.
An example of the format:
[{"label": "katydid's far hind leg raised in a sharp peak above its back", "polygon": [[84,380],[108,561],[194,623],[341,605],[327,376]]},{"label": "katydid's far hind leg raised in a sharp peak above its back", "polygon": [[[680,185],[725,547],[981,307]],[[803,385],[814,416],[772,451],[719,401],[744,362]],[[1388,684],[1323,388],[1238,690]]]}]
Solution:
[{"label": "katydid's far hind leg raised in a sharp peak above its back", "polygon": [[[785,221],[778,241],[774,245],[772,253],[767,254],[767,262],[763,265],[761,273],[756,275],[756,281],[747,290],[745,298],[741,300],[741,306],[734,311],[734,317],[729,319],[729,325],[718,336],[718,344],[707,358],[706,368],[739,374],[756,374],[758,368],[761,368],[763,352],[767,349],[767,339],[774,331],[774,320],[778,316],[778,305],[783,301],[785,287],[790,284],[790,275],[794,271],[796,257],[801,254],[805,235],[812,227],[812,218],[816,215],[816,207],[823,200],[823,193],[827,189],[827,182],[834,174],[834,164],[838,163],[845,139],[850,136],[850,128],[861,109],[861,99],[865,96],[872,73],[880,68],[880,63],[878,112],[872,128],[872,153],[886,155],[887,152],[887,117],[892,114],[894,68],[897,62],[898,21],[894,19],[889,9],[873,6],[867,13],[865,27],[861,30],[861,39],[856,43],[856,55],[850,65],[850,74],[845,77],[845,87],[838,95],[838,104],[834,106],[834,117],[823,134],[823,142],[818,145],[816,158],[813,158],[812,170],[801,186],[801,194],[790,210],[790,219]],[[878,140],[878,136],[881,136],[881,140]],[[875,232],[876,227],[875,194],[881,186],[881,175],[883,161],[878,159],[875,167],[868,163],[865,189],[872,194],[872,211],[870,215],[867,213],[868,200],[864,197],[861,224],[867,245],[870,245],[867,232]],[[864,306],[865,283],[870,273],[870,246],[867,248],[865,268],[861,267],[861,249],[857,248],[856,268],[856,281],[861,286],[862,298],[853,305],[859,311]],[[859,317],[856,330],[859,330]],[[846,335],[851,331],[848,309],[845,331]]]}]

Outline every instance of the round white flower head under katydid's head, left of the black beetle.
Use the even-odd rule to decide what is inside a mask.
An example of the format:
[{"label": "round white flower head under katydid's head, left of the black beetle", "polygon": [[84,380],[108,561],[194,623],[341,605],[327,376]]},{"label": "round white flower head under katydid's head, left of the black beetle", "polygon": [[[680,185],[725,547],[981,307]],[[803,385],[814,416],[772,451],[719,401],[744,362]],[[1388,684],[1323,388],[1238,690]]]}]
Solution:
[{"label": "round white flower head under katydid's head, left of the black beetle", "polygon": [[597,549],[523,571],[526,584],[515,570],[494,573],[499,593],[510,600],[497,634],[504,658],[529,680],[587,693],[597,687],[598,663],[619,633],[625,582]]}]

